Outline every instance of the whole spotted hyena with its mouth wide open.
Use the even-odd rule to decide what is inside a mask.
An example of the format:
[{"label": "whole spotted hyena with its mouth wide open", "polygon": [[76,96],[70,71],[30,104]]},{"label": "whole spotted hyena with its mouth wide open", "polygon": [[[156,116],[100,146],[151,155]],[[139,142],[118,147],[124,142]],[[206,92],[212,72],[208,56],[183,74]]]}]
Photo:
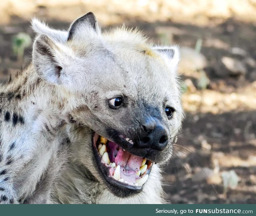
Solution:
[{"label": "whole spotted hyena with its mouth wide open", "polygon": [[0,203],[164,202],[178,48],[101,33],[91,12],[68,31],[32,27],[32,64],[0,87]]}]

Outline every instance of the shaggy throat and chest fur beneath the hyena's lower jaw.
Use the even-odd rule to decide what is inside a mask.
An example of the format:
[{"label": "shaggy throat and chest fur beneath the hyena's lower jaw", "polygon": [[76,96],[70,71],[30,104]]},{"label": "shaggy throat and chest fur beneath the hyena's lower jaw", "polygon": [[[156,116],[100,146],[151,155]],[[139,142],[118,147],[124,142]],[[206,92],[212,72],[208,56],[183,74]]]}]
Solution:
[{"label": "shaggy throat and chest fur beneath the hyena's lower jaw", "polygon": [[[96,181],[81,163],[66,163],[52,192],[52,203],[62,204],[163,204],[162,175],[157,165],[144,192],[128,198],[114,196],[106,185]],[[67,187],[68,185],[68,187]]]}]

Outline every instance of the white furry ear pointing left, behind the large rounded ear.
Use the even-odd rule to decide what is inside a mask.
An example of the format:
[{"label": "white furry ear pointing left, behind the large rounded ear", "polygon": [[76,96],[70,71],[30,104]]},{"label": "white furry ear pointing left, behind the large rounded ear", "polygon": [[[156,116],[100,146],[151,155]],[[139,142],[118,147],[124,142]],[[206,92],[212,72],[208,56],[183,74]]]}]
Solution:
[{"label": "white furry ear pointing left, behind the large rounded ear", "polygon": [[66,42],[66,40],[68,38],[67,31],[60,31],[60,30],[52,29],[52,28],[48,27],[45,23],[40,22],[36,18],[34,18],[31,21],[31,26],[32,26],[32,29],[38,35],[41,35],[41,34],[48,35],[49,37],[51,37],[52,39],[54,39],[55,41],[58,41],[60,43]]}]

